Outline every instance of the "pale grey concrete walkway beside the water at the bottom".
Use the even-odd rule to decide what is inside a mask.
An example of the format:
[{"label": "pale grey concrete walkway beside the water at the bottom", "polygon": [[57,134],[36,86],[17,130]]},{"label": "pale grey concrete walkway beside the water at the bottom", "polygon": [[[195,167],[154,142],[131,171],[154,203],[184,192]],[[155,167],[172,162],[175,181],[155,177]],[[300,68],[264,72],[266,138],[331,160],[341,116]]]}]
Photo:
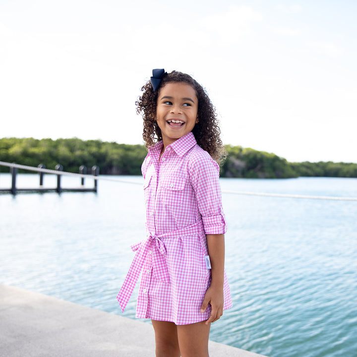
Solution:
[{"label": "pale grey concrete walkway beside the water at the bottom", "polygon": [[[259,357],[209,343],[211,357]],[[1,357],[154,357],[150,324],[0,284]]]}]

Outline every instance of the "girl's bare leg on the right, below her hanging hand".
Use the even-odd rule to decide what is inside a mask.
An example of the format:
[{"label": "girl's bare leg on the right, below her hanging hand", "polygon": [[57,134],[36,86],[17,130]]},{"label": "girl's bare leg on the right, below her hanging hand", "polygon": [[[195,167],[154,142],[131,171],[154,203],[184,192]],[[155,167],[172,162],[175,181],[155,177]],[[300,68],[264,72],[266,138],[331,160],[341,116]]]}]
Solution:
[{"label": "girl's bare leg on the right, below her hanging hand", "polygon": [[208,338],[211,324],[206,321],[178,325],[179,349],[182,357],[209,357]]}]

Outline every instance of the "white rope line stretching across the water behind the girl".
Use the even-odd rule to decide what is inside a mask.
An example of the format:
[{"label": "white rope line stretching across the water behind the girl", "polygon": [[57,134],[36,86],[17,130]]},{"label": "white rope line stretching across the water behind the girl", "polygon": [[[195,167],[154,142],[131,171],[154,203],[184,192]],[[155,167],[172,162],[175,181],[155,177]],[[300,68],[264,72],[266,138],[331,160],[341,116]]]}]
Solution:
[{"label": "white rope line stretching across the water behind the girl", "polygon": [[[94,175],[83,175],[83,174],[73,174],[65,171],[58,170],[49,170],[49,169],[41,169],[32,166],[26,165],[18,165],[18,164],[10,164],[3,161],[0,161],[0,166],[14,167],[17,169],[43,172],[47,174],[55,174],[55,175],[66,175],[66,176],[75,176],[80,178],[87,179],[95,179],[95,180],[105,180],[112,182],[122,182],[122,183],[131,183],[136,185],[142,185],[142,182],[122,180],[122,179],[111,179],[103,176],[94,176]],[[283,198],[305,198],[305,199],[320,199],[320,200],[335,200],[335,201],[357,201],[357,197],[335,197],[335,196],[307,196],[307,195],[297,195],[297,194],[285,194],[285,193],[264,193],[264,192],[247,192],[247,191],[226,191],[222,190],[222,193],[229,194],[239,194],[239,195],[248,195],[248,196],[266,196],[266,197],[283,197]]]}]

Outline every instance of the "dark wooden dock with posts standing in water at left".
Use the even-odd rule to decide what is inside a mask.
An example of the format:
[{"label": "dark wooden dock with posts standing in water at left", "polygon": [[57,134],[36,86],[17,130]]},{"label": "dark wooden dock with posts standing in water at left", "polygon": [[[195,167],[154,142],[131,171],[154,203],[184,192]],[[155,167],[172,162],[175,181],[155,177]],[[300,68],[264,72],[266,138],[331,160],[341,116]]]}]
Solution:
[{"label": "dark wooden dock with posts standing in water at left", "polygon": [[[45,165],[40,164],[38,167],[26,166],[26,165],[18,165],[14,163],[7,163],[0,161],[0,169],[1,166],[9,167],[10,174],[11,174],[11,187],[4,188],[0,187],[0,193],[11,193],[15,195],[18,192],[97,192],[98,190],[98,178],[99,178],[99,167],[93,166],[92,167],[92,175],[87,175],[87,168],[84,165],[79,167],[79,174],[63,172],[63,166],[58,164],[55,167],[55,170],[48,170],[46,169]],[[18,170],[25,170],[25,171],[32,171],[38,172],[40,175],[39,186],[38,187],[26,187],[26,188],[19,188],[16,186],[16,178],[18,174]],[[44,175],[51,174],[57,175],[57,186],[56,187],[44,187]],[[78,187],[62,187],[61,185],[61,176],[75,176],[81,179],[80,186]],[[84,185],[84,179],[93,179],[94,185],[93,187],[86,187]]]}]

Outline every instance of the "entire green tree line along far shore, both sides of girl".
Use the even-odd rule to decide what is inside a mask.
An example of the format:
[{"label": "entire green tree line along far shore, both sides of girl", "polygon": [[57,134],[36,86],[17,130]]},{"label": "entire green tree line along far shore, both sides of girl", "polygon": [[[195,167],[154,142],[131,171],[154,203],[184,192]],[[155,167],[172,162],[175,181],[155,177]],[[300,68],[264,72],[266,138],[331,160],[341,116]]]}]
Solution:
[{"label": "entire green tree line along far shore, both sides of girl", "polygon": [[[287,179],[296,177],[357,178],[357,164],[333,162],[289,163],[275,154],[241,146],[227,145],[227,159],[221,177]],[[147,154],[144,145],[118,144],[101,140],[1,138],[0,161],[54,169],[57,164],[67,172],[77,173],[79,166],[89,171],[94,165],[102,175],[141,175]],[[1,167],[2,172],[8,168]]]}]

